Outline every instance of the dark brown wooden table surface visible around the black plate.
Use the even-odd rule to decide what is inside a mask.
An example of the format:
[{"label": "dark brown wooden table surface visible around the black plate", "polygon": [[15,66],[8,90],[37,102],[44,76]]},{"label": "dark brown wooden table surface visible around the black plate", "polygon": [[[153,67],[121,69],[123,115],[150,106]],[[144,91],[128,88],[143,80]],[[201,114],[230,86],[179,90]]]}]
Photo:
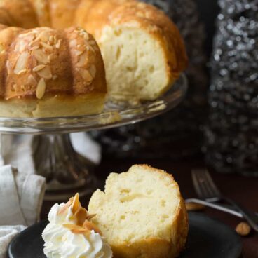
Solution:
[{"label": "dark brown wooden table surface visible around the black plate", "polygon": [[[101,165],[96,168],[95,173],[100,179],[104,180],[107,175],[109,175],[109,172],[127,171],[130,165],[143,163],[172,173],[179,183],[184,198],[197,197],[191,182],[190,171],[193,168],[203,168],[205,163],[201,156],[186,158],[183,161],[171,161],[169,158],[157,160],[143,160],[142,158],[104,158]],[[248,209],[258,212],[258,178],[247,178],[239,175],[222,175],[215,172],[212,172],[212,177],[215,179],[216,184],[224,195],[243,203]],[[83,203],[87,205],[85,199]],[[52,204],[53,203],[44,203],[42,218],[46,218]],[[241,222],[237,217],[209,208],[205,209],[203,212],[212,218],[219,219],[228,224],[232,229],[235,229],[236,225]],[[242,238],[242,240],[243,257],[258,258],[258,234],[252,233],[250,236]]]}]

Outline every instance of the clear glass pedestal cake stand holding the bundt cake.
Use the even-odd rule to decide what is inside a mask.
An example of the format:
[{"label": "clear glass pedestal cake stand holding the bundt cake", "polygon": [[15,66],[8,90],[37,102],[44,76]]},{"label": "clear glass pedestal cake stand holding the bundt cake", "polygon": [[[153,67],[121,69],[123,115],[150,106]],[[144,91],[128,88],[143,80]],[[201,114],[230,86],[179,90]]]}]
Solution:
[{"label": "clear glass pedestal cake stand holding the bundt cake", "polygon": [[0,133],[34,135],[34,165],[46,177],[45,200],[62,201],[74,193],[91,194],[97,188],[94,163],[74,151],[69,133],[115,128],[137,123],[175,108],[186,95],[182,75],[158,100],[135,106],[107,102],[100,114],[57,118],[0,118]]}]

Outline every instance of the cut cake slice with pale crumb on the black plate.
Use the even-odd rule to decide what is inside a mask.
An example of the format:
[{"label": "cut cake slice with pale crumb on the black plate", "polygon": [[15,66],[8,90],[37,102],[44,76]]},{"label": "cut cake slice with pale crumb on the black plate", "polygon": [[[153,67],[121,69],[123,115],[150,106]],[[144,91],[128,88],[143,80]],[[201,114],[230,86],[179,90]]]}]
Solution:
[{"label": "cut cake slice with pale crumb on the black plate", "polygon": [[172,175],[148,165],[111,173],[88,211],[111,245],[114,257],[177,257],[186,243],[188,219]]}]

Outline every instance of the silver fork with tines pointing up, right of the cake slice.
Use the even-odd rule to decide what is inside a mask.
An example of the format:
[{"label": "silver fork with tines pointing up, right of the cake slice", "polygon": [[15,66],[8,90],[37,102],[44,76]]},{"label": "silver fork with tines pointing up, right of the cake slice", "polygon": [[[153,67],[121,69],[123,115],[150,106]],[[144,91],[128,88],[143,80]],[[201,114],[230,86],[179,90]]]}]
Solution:
[{"label": "silver fork with tines pointing up, right of the cake slice", "polygon": [[232,205],[233,208],[238,210],[238,212],[243,215],[243,218],[246,219],[250,226],[252,226],[252,228],[258,232],[258,217],[254,214],[254,212],[248,211],[231,198],[222,196],[221,192],[213,182],[208,170],[192,170],[191,175],[193,178],[194,187],[199,197],[210,203],[226,202],[229,205]]}]

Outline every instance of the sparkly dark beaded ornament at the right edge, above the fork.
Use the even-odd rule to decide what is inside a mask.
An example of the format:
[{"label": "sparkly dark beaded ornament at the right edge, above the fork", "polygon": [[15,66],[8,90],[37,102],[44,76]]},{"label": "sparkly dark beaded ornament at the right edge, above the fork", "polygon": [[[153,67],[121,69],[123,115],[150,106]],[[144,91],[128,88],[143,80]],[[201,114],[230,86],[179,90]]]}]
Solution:
[{"label": "sparkly dark beaded ornament at the right edge, above the fork", "polygon": [[207,161],[258,176],[258,0],[220,0],[210,62]]}]

